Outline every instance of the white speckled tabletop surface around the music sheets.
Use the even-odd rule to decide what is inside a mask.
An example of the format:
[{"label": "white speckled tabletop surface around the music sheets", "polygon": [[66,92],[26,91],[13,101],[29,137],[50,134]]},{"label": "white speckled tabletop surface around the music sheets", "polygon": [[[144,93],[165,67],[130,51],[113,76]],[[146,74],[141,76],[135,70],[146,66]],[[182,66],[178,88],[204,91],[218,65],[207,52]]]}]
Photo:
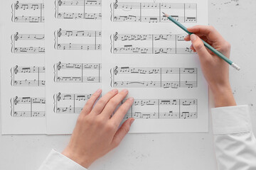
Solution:
[{"label": "white speckled tabletop surface around the music sheets", "polygon": [[[103,0],[104,1],[104,0]],[[230,81],[238,104],[248,104],[256,132],[256,1],[209,0],[209,24],[232,44],[232,60],[240,72],[230,69]],[[92,164],[92,170],[215,170],[213,135],[127,135],[122,144]],[[36,170],[50,149],[62,151],[69,136],[0,136],[1,170]]]}]

